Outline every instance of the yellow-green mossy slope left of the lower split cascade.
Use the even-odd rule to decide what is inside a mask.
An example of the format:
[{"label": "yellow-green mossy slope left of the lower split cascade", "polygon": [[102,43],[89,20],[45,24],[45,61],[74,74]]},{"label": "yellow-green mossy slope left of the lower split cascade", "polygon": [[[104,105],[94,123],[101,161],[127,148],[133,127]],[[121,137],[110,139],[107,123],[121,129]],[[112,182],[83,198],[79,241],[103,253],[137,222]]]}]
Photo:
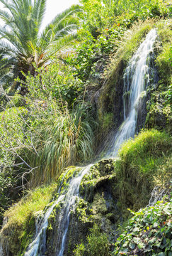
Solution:
[{"label": "yellow-green mossy slope left of the lower split cascade", "polygon": [[1,229],[1,245],[5,256],[21,256],[35,235],[35,222],[42,218],[43,210],[50,207],[57,184],[29,191],[21,201],[9,208]]}]

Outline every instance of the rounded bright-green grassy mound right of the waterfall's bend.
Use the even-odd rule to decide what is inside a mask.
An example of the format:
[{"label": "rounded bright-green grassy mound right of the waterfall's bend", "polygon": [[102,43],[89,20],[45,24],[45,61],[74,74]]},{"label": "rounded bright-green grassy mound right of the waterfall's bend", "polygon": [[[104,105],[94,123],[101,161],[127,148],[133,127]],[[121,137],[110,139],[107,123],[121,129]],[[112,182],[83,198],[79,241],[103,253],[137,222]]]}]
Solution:
[{"label": "rounded bright-green grassy mound right of the waterfall's bend", "polygon": [[154,177],[162,175],[159,167],[171,156],[171,142],[168,134],[152,129],[122,144],[115,167],[117,191],[125,206],[139,209],[147,205],[155,186]]}]

